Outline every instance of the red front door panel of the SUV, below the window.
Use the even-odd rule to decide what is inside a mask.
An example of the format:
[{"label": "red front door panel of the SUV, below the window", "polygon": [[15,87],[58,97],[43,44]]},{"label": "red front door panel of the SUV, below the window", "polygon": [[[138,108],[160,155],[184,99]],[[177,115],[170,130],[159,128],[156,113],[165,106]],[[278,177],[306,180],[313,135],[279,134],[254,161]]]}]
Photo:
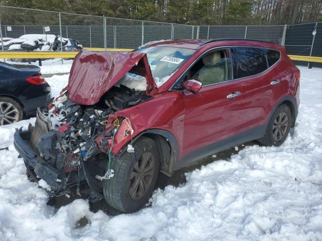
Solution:
[{"label": "red front door panel of the SUV, below the window", "polygon": [[236,91],[238,81],[205,86],[197,94],[185,91],[183,156],[238,132],[241,98],[226,97]]}]

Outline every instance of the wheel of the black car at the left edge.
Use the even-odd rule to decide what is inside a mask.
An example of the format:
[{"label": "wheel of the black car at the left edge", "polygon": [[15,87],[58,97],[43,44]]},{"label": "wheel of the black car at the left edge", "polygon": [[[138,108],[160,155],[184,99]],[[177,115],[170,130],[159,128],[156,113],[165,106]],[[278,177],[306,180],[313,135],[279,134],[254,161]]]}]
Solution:
[{"label": "wheel of the black car at the left edge", "polygon": [[0,126],[9,125],[21,121],[23,109],[14,99],[0,96]]}]

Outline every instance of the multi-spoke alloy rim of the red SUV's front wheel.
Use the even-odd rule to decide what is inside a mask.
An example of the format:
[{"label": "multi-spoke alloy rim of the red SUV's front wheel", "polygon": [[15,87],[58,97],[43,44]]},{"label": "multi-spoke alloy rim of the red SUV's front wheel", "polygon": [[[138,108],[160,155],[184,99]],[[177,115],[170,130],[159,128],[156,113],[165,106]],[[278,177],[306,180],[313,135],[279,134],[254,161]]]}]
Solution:
[{"label": "multi-spoke alloy rim of the red SUV's front wheel", "polygon": [[130,176],[130,196],[140,199],[151,185],[155,163],[153,154],[145,152],[137,160]]}]

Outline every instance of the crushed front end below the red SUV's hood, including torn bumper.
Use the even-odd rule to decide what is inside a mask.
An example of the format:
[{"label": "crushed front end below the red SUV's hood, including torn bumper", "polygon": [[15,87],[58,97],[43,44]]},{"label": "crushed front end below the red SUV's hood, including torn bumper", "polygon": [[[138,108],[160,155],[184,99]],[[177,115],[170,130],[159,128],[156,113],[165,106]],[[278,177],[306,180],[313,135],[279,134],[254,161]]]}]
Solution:
[{"label": "crushed front end below the red SUV's hood, including torn bumper", "polygon": [[[110,105],[115,104],[111,100]],[[117,117],[115,109],[104,107],[75,104],[64,93],[48,111],[37,110],[34,127],[16,130],[15,148],[28,174],[35,181],[44,180],[50,195],[67,194],[72,186],[79,191],[79,185],[86,182],[90,198],[102,198],[100,180],[113,176],[109,162],[114,136],[124,128],[125,135],[133,132],[129,119]],[[120,125],[122,122],[126,124]]]}]

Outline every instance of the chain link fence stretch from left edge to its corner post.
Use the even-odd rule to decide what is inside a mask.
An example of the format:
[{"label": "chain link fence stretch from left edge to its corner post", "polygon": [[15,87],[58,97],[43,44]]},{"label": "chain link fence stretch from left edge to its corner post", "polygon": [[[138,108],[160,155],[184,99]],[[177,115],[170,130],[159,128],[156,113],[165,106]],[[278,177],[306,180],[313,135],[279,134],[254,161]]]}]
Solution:
[{"label": "chain link fence stretch from left edge to its corner post", "polygon": [[88,48],[133,49],[155,40],[194,37],[194,26],[191,25],[5,6],[0,6],[0,20],[2,38],[19,38],[26,34],[55,35],[76,40]]}]

